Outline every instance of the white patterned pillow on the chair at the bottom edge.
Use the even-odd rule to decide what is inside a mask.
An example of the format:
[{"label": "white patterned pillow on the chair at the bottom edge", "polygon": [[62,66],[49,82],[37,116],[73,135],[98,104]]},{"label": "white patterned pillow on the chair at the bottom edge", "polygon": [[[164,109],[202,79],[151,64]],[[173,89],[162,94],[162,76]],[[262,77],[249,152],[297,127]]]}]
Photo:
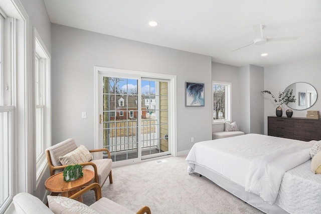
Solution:
[{"label": "white patterned pillow on the chair at the bottom edge", "polygon": [[[98,212],[90,208],[86,204],[79,202],[78,200],[71,199],[69,197],[63,196],[52,196],[48,195],[48,205],[51,211],[55,214],[66,213],[93,213],[97,214]],[[98,213],[99,214],[99,213]]]}]

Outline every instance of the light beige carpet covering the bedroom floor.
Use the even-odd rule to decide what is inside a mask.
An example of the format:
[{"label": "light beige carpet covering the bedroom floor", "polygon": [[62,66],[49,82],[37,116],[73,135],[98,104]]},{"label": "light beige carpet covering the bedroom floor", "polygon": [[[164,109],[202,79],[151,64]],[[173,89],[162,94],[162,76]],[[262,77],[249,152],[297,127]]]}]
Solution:
[{"label": "light beige carpet covering the bedroom floor", "polygon": [[[137,211],[149,206],[152,214],[163,213],[263,213],[225,191],[206,177],[187,173],[185,157],[115,167],[113,183],[107,179],[102,196]],[[93,191],[83,195],[94,202]]]}]

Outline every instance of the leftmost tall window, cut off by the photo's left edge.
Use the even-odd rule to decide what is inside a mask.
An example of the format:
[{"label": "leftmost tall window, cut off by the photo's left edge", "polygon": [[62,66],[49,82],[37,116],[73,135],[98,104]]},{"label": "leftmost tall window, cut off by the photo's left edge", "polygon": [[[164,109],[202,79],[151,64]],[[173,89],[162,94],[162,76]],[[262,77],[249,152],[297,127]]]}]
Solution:
[{"label": "leftmost tall window, cut off by the photo's left edge", "polygon": [[[14,68],[15,20],[0,14],[0,213],[14,192]],[[5,57],[6,56],[6,57]]]}]

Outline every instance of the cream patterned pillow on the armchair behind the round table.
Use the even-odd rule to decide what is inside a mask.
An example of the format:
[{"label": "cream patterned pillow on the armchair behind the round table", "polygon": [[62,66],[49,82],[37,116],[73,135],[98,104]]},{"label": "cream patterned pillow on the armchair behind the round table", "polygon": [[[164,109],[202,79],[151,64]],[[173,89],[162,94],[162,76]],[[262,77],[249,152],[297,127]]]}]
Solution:
[{"label": "cream patterned pillow on the armchair behind the round table", "polygon": [[71,165],[71,164],[78,164],[82,162],[88,162],[92,159],[93,157],[91,153],[84,145],[80,145],[75,150],[65,154],[64,156],[59,157],[59,160],[63,165]]}]

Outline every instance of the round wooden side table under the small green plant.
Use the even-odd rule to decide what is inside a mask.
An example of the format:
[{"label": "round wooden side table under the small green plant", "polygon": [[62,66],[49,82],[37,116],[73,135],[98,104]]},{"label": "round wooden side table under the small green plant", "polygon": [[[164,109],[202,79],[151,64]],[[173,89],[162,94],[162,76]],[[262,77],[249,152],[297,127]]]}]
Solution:
[{"label": "round wooden side table under the small green plant", "polygon": [[[78,192],[81,187],[90,184],[95,177],[95,173],[90,169],[83,169],[82,172],[84,173],[82,177],[69,182],[64,181],[63,172],[54,174],[46,180],[45,187],[52,192],[61,192],[62,196],[70,197]],[[83,202],[82,196],[78,197],[77,200]]]}]

